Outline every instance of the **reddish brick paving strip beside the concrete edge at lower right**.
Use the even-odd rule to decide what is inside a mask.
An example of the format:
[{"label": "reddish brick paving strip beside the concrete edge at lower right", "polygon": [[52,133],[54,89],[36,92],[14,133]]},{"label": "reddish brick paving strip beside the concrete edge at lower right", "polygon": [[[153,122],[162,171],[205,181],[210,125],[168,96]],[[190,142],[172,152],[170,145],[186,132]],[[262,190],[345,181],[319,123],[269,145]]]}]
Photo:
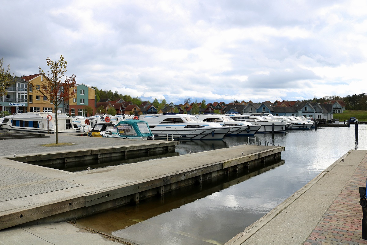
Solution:
[{"label": "reddish brick paving strip beside the concrete edge at lower right", "polygon": [[359,205],[359,187],[366,186],[366,176],[367,156],[330,205],[304,245],[367,244],[367,240],[362,239],[362,207]]}]

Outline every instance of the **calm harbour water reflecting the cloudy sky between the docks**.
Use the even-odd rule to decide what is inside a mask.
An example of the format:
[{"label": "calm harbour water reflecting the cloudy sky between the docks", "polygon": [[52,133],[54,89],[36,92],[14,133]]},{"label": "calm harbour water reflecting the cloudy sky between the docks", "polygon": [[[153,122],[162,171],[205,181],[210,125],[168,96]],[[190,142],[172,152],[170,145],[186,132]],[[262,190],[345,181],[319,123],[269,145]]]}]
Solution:
[{"label": "calm harbour water reflecting the cloudy sky between the docks", "polygon": [[[283,161],[222,177],[186,192],[172,192],[163,198],[141,201],[137,206],[77,220],[86,226],[137,244],[224,244],[248,225],[317,176],[350,149],[367,149],[366,125],[320,127],[317,130],[287,131],[286,134],[258,134],[257,140],[284,146]],[[244,144],[247,137],[224,141],[181,142],[180,155]]]}]

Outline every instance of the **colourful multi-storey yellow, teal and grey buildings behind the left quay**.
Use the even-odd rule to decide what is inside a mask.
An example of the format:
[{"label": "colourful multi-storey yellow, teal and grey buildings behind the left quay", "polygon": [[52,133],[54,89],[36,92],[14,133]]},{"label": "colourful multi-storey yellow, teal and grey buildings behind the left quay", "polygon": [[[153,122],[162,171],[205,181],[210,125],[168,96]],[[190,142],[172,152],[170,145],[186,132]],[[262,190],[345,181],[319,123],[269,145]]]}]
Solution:
[{"label": "colourful multi-storey yellow, teal and grey buildings behind the left quay", "polygon": [[[23,112],[55,112],[54,105],[46,96],[40,94],[30,86],[30,82],[38,88],[46,81],[41,73],[14,78],[10,87],[6,88],[6,95],[0,97],[0,111],[10,114]],[[71,116],[92,116],[96,112],[95,89],[86,84],[76,84],[73,88],[76,93],[68,101],[63,101],[57,108],[62,113]],[[93,112],[87,113],[87,107]]]}]

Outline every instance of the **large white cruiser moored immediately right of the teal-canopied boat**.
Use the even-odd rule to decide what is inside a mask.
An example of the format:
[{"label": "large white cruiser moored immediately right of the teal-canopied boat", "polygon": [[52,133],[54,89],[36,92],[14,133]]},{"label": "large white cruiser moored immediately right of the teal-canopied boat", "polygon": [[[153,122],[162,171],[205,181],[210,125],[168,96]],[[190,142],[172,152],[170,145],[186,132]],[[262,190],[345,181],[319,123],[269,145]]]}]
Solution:
[{"label": "large white cruiser moored immediately right of the teal-canopied boat", "polygon": [[148,123],[155,138],[177,140],[222,140],[230,127],[215,122],[203,122],[192,115],[176,113],[140,115]]}]

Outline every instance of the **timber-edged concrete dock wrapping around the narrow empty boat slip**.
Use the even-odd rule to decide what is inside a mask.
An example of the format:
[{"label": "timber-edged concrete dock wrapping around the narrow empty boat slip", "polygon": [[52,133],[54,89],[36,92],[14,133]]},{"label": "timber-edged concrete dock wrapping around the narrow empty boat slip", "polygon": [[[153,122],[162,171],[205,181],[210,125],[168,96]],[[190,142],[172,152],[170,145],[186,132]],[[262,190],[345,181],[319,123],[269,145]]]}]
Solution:
[{"label": "timber-edged concrete dock wrapping around the narrow empty boat slip", "polygon": [[[280,160],[280,152],[284,151],[284,147],[241,145],[75,173],[19,162],[30,159],[46,162],[57,159],[65,162],[66,159],[68,162],[75,157],[98,157],[103,152],[107,155],[125,152],[127,147],[142,149],[150,146],[152,149],[177,144],[176,141],[128,140],[127,145],[117,145],[126,141],[69,137],[73,138],[59,137],[59,142],[76,140],[73,151],[65,146],[54,148],[53,152],[35,154],[38,147],[44,149],[44,146],[34,143],[35,139],[32,139],[32,154],[24,154],[27,150],[23,150],[22,155],[0,158],[0,229],[73,220],[127,203],[138,203],[140,199],[164,195],[165,192],[239,168]],[[100,148],[85,148],[85,144],[81,143],[88,140],[94,143],[99,141],[97,145]],[[26,141],[18,141],[18,147],[24,145],[27,149]],[[5,146],[8,147],[7,152],[14,151],[11,144],[15,143]],[[103,144],[109,147],[102,147]]]}]

